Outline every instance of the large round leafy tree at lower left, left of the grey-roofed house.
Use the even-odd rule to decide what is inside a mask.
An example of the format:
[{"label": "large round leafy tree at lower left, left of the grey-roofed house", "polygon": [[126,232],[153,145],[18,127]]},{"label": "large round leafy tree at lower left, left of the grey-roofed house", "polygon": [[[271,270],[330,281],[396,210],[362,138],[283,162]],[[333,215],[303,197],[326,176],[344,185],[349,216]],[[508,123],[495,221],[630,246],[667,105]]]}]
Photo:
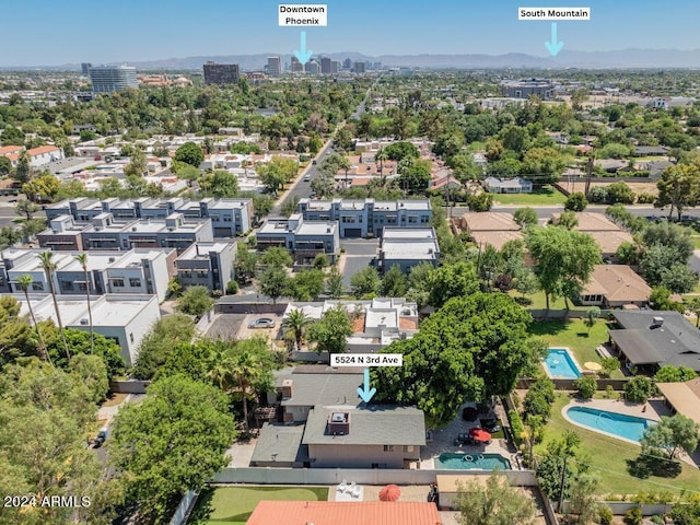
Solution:
[{"label": "large round leafy tree at lower left, left of the grey-roofed house", "polygon": [[235,439],[228,408],[226,396],[213,386],[174,376],[153,383],[142,402],[119,410],[109,458],[140,514],[154,523],[170,520],[185,492],[203,488],[226,466]]}]

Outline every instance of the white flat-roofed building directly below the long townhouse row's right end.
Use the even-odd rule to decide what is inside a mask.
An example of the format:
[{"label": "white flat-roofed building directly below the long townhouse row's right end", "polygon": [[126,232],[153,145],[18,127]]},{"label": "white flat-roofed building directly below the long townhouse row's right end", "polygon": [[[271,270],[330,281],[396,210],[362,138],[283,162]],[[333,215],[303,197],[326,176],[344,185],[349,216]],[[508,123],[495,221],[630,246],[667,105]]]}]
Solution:
[{"label": "white flat-roofed building directly below the long townhouse row's right end", "polygon": [[378,267],[388,271],[398,266],[402,273],[422,262],[438,266],[440,247],[433,228],[387,226],[380,243]]}]

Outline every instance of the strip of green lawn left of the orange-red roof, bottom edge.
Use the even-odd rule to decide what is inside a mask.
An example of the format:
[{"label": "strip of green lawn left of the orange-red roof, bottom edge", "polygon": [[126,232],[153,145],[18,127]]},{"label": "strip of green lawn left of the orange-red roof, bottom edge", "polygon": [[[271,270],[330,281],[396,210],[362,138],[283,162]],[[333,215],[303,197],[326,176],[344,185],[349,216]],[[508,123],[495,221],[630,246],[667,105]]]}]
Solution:
[{"label": "strip of green lawn left of the orange-red roof, bottom edge", "polygon": [[327,487],[217,487],[202,491],[188,521],[197,525],[245,525],[259,501],[327,501]]}]

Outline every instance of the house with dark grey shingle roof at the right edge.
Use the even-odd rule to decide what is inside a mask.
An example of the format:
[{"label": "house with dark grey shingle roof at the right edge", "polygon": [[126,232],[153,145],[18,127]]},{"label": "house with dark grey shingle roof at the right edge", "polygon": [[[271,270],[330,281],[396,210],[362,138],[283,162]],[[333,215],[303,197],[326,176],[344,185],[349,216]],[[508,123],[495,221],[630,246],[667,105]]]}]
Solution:
[{"label": "house with dark grey shingle roof at the right edge", "polygon": [[620,329],[609,340],[628,368],[653,374],[662,366],[687,366],[700,372],[700,330],[678,312],[614,311]]}]

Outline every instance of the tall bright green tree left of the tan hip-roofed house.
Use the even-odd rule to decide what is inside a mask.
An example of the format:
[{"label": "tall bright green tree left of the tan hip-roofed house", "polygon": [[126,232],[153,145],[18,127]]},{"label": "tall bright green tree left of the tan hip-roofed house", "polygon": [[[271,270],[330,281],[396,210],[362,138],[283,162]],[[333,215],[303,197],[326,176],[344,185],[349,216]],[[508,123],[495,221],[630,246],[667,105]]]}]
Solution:
[{"label": "tall bright green tree left of the tan hip-roofed house", "polygon": [[578,298],[595,265],[600,264],[600,248],[593,237],[564,228],[532,229],[525,244],[536,261],[535,275],[545,292],[547,312],[551,296]]}]

